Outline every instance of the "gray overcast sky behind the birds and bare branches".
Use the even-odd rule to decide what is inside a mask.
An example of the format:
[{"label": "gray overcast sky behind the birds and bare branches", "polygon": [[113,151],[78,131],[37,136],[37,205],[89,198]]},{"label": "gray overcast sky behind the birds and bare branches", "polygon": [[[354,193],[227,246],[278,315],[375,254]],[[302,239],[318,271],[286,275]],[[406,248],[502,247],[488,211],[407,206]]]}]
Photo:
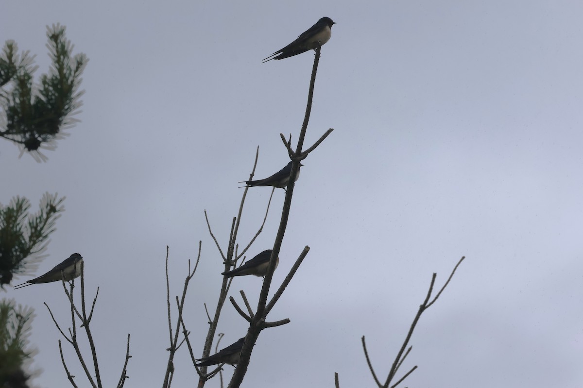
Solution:
[{"label": "gray overcast sky behind the birds and bare branches", "polygon": [[[79,252],[100,287],[93,330],[108,386],[132,335],[127,387],[158,386],[167,359],[164,257],[172,293],[203,241],[185,318],[197,354],[203,302],[216,304],[226,246],[259,145],[257,176],[287,163],[279,133],[297,135],[313,56],[262,64],[320,17],[338,24],[322,48],[305,160],[274,282],[310,254],[257,341],[245,386],[373,386],[360,337],[385,376],[431,273],[441,284],[403,372],[410,387],[573,387],[583,383],[583,4],[580,1],[294,1],[2,3],[0,37],[37,54],[60,22],[83,74],[81,122],[46,152],[0,141],[0,202],[66,195],[39,275]],[[269,188],[250,190],[240,242],[260,225]],[[250,254],[268,249],[283,190]],[[22,276],[15,284],[30,279]],[[261,279],[236,279],[257,299]],[[5,294],[6,295],[6,294]],[[36,309],[36,383],[68,385],[58,284],[9,290]],[[66,325],[66,323],[64,323]],[[247,325],[226,306],[225,346]],[[85,386],[70,349],[72,373]],[[174,385],[196,380],[186,349]],[[225,368],[227,378],[231,368]],[[218,380],[209,382],[218,386]]]}]

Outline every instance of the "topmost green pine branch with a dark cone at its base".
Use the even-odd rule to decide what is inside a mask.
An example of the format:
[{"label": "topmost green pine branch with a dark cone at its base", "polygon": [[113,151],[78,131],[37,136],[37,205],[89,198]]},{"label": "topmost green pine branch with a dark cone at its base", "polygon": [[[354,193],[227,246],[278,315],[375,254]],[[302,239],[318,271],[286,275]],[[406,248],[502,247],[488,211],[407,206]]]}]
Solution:
[{"label": "topmost green pine branch with a dark cone at its base", "polygon": [[[17,54],[17,45],[7,41],[0,57],[0,87],[10,83],[10,91],[0,91],[0,106],[5,119],[0,120],[0,137],[29,151],[37,161],[46,160],[39,148],[55,149],[55,140],[64,138],[62,129],[72,127],[72,118],[82,105],[79,90],[81,74],[87,65],[85,54],[72,56],[73,45],[65,37],[65,27],[47,26],[52,65],[48,74],[34,84],[32,59],[28,52]],[[22,155],[22,154],[21,154]]]}]

